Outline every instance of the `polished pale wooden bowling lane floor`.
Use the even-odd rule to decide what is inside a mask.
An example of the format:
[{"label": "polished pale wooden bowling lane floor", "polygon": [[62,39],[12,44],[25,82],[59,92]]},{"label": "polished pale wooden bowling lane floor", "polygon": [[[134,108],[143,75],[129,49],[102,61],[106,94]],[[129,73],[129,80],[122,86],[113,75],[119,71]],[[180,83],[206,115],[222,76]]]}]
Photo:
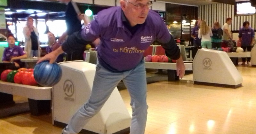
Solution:
[{"label": "polished pale wooden bowling lane floor", "polygon": [[[148,84],[145,133],[256,133],[256,68],[239,65],[237,69],[244,80],[237,89],[194,85],[190,81]],[[120,94],[131,114],[128,91]],[[61,130],[52,125],[51,114],[37,117],[25,113],[0,119],[3,134],[59,134]]]}]

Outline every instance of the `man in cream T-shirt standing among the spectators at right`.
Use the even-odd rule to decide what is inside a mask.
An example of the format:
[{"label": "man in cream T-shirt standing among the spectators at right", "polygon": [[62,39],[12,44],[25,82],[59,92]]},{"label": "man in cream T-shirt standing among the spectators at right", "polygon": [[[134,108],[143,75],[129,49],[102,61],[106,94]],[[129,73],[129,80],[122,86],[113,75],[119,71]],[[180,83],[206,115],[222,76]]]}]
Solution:
[{"label": "man in cream T-shirt standing among the spectators at right", "polygon": [[231,25],[231,23],[232,23],[232,19],[231,19],[231,18],[227,18],[227,19],[226,19],[226,23],[222,26],[222,30],[223,30],[222,41],[223,41],[230,49],[233,49],[234,43],[233,43],[233,41],[232,41],[232,33],[231,33],[230,28],[229,28],[229,25]]}]

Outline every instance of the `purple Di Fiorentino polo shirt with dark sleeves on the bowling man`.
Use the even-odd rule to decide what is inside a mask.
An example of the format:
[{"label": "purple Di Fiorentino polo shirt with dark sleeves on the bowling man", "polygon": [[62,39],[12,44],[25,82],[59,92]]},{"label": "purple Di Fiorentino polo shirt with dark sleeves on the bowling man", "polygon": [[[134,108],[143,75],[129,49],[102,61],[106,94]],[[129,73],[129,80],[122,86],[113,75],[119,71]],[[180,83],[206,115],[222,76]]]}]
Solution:
[{"label": "purple Di Fiorentino polo shirt with dark sleeves on the bowling man", "polygon": [[[101,44],[97,51],[101,66],[113,72],[133,69],[143,59],[143,52],[155,40],[162,43],[166,53],[172,59],[179,59],[180,50],[159,14],[150,10],[145,23],[139,25],[132,34],[124,26],[121,10],[120,6],[102,10],[95,16],[95,20],[80,31],[81,35],[76,35],[81,36],[84,42],[92,42],[100,37]],[[79,37],[72,36],[62,44],[62,49],[65,52],[74,49],[72,43],[79,44],[77,41]]]}]

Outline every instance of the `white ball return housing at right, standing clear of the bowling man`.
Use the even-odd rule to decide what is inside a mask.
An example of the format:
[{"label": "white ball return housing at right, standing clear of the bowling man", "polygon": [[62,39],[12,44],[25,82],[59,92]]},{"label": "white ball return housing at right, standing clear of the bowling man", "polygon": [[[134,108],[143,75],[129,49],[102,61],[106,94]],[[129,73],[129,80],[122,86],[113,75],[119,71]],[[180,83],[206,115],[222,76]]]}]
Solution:
[{"label": "white ball return housing at right, standing clear of the bowling man", "polygon": [[243,78],[224,51],[199,49],[193,61],[194,84],[237,88]]}]

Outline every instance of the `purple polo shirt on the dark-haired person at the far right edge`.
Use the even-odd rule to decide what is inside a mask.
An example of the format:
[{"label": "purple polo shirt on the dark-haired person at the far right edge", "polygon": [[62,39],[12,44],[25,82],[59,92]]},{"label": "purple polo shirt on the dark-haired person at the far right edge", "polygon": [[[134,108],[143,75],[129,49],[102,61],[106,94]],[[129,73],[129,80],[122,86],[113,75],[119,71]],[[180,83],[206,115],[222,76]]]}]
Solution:
[{"label": "purple polo shirt on the dark-haired person at the far right edge", "polygon": [[242,38],[242,46],[250,46],[252,42],[252,38],[254,38],[255,33],[254,30],[249,27],[248,29],[241,28],[239,30],[239,38]]}]

